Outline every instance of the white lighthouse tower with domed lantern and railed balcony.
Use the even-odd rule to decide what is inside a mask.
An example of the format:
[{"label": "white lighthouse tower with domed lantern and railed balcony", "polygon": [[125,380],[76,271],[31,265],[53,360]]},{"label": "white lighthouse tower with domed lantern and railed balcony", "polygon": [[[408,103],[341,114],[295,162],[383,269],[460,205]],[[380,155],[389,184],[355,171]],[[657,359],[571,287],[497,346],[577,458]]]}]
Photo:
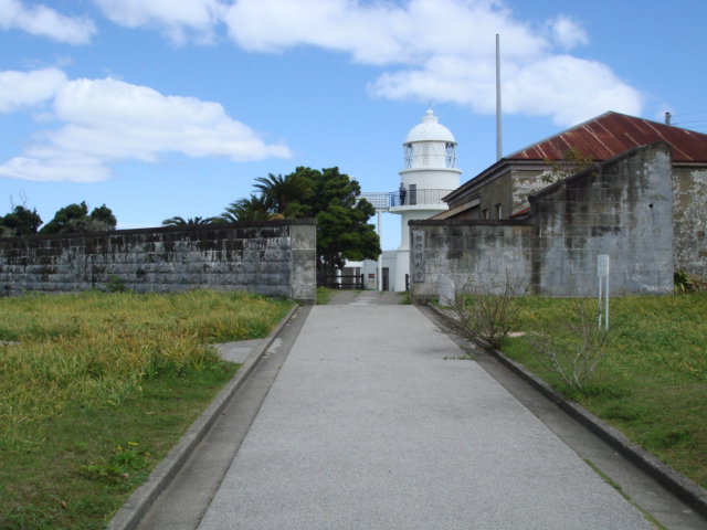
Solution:
[{"label": "white lighthouse tower with domed lantern and railed balcony", "polygon": [[404,169],[400,191],[392,194],[390,213],[401,216],[400,247],[397,253],[394,290],[405,290],[410,274],[410,227],[408,221],[429,219],[447,210],[442,198],[460,187],[456,141],[432,109],[412,128],[403,144]]}]

